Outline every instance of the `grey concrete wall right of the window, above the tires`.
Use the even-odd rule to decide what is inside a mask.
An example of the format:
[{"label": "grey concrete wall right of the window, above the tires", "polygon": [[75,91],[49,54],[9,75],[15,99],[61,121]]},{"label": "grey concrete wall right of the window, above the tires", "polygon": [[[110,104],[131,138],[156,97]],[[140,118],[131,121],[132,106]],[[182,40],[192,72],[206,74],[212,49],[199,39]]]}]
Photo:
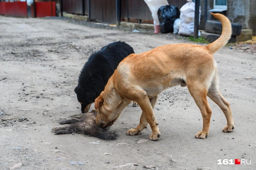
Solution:
[{"label": "grey concrete wall right of the window, above the tires", "polygon": [[242,29],[250,29],[250,0],[228,0],[227,17],[231,22],[240,23]]}]

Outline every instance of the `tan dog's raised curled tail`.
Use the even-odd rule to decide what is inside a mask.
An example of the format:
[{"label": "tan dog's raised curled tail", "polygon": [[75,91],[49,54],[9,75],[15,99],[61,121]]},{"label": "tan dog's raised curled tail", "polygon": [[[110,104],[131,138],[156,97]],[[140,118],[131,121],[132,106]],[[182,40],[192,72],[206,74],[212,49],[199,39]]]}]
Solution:
[{"label": "tan dog's raised curled tail", "polygon": [[212,42],[211,44],[209,44],[208,46],[206,46],[208,48],[208,51],[213,54],[216,51],[218,51],[221,47],[224,47],[227,43],[228,40],[230,39],[231,35],[232,35],[232,26],[231,23],[229,21],[229,19],[222,15],[222,14],[213,14],[211,12],[211,14],[219,19],[219,21],[222,24],[222,33],[219,37],[219,39],[215,40],[214,42]]}]

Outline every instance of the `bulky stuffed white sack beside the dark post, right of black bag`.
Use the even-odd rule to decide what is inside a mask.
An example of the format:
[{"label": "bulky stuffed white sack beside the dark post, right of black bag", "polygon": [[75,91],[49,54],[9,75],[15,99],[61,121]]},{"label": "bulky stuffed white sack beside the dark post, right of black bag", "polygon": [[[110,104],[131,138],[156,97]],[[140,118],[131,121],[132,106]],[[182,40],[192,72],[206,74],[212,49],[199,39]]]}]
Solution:
[{"label": "bulky stuffed white sack beside the dark post, right of black bag", "polygon": [[[192,0],[183,5],[180,9],[180,35],[191,36],[194,35],[194,18],[195,18],[195,3]],[[200,7],[201,8],[201,7]],[[200,23],[201,9],[199,9],[199,23]],[[198,36],[201,33],[198,31]]]}]

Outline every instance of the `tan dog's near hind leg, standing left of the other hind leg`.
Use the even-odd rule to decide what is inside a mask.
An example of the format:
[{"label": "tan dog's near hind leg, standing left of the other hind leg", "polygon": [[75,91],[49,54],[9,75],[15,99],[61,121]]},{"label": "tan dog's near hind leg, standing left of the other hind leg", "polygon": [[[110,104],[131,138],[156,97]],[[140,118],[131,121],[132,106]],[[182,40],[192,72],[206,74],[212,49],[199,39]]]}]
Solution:
[{"label": "tan dog's near hind leg, standing left of the other hind leg", "polygon": [[188,90],[192,97],[194,98],[197,106],[199,107],[201,114],[203,116],[203,130],[199,131],[195,137],[204,139],[208,135],[210,127],[210,119],[212,115],[212,110],[208,104],[206,95],[207,89],[199,85],[200,83],[188,84]]}]

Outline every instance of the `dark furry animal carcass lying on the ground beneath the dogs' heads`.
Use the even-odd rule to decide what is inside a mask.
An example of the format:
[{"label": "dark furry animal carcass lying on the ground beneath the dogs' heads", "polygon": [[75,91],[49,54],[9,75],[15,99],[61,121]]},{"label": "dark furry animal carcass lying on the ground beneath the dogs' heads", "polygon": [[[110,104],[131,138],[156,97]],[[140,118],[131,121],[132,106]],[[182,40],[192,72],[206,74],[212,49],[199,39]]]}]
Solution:
[{"label": "dark furry animal carcass lying on the ground beneath the dogs' heads", "polygon": [[66,127],[52,128],[57,134],[82,133],[91,137],[98,137],[104,140],[115,140],[117,137],[116,131],[109,131],[108,128],[99,128],[96,126],[96,110],[87,112],[82,117],[77,119],[69,119],[60,122],[60,124],[71,124]]}]

